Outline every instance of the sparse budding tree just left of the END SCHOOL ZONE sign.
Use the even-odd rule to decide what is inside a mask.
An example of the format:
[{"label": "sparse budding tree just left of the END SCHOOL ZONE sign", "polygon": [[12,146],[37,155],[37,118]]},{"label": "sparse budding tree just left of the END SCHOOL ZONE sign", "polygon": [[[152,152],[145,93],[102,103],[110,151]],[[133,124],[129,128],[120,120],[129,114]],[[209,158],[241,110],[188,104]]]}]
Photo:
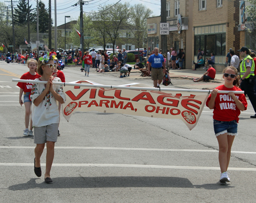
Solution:
[{"label": "sparse budding tree just left of the END SCHOOL ZONE sign", "polygon": [[135,43],[138,48],[138,54],[139,54],[139,48],[143,46],[143,39],[147,37],[146,19],[150,17],[152,13],[153,13],[152,10],[146,8],[142,4],[136,4],[132,8],[131,31],[135,38]]}]

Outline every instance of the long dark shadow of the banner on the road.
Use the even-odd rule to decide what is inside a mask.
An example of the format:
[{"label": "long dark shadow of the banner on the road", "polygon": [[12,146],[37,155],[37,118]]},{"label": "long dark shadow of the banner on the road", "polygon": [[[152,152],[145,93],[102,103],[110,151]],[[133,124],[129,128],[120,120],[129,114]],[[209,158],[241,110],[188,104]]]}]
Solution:
[{"label": "long dark shadow of the banner on the road", "polygon": [[[36,183],[36,179],[31,178],[27,183],[10,186],[9,190],[28,190],[32,188],[129,188],[129,187],[169,187],[169,188],[194,188],[187,178],[181,177],[56,177],[52,178],[53,184],[45,182]],[[42,180],[43,178],[41,178]]]}]

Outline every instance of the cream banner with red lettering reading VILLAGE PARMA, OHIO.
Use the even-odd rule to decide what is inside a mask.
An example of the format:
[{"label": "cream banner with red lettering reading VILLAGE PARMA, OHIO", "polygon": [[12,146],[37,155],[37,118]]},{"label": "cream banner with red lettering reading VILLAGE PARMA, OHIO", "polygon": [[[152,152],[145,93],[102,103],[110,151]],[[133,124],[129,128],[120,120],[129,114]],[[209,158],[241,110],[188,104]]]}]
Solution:
[{"label": "cream banner with red lettering reading VILLAGE PARMA, OHIO", "polygon": [[[74,82],[73,82],[74,83]],[[90,81],[75,83],[96,84]],[[66,83],[67,84],[67,83]],[[125,85],[145,87],[144,84]],[[209,91],[175,92],[152,90],[123,89],[104,87],[65,86],[66,103],[62,104],[62,113],[67,121],[76,111],[100,111],[134,116],[144,116],[164,119],[180,119],[191,130],[200,118],[201,112],[209,96]],[[147,86],[148,87],[148,86]],[[178,92],[177,92],[178,91]]]}]

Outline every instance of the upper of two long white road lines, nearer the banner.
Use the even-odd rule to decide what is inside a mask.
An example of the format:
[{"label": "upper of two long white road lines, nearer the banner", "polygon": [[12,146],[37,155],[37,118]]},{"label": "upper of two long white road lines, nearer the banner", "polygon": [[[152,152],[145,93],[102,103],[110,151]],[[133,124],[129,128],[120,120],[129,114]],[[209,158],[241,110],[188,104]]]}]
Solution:
[{"label": "upper of two long white road lines, nearer the banner", "polygon": [[[0,149],[34,149],[35,146],[0,146]],[[184,152],[219,152],[213,149],[156,149],[156,148],[124,148],[124,147],[54,147],[55,149],[108,149],[138,151],[184,151]],[[231,153],[256,154],[254,151],[231,151]]]}]

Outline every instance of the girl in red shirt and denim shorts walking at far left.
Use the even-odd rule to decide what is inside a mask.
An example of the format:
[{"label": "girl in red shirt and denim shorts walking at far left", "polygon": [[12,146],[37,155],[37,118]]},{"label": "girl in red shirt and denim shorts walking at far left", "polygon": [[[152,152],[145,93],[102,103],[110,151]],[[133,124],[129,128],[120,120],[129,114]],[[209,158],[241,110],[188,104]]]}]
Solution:
[{"label": "girl in red shirt and denim shorts walking at far left", "polygon": [[[29,72],[25,73],[20,77],[22,80],[34,80],[36,78],[40,78],[40,76],[36,73],[37,68],[37,61],[35,59],[29,59],[27,61],[27,65],[29,67]],[[25,83],[25,82],[18,82],[17,86],[20,87],[19,90],[19,104],[22,106],[25,105],[25,130],[23,135],[24,136],[33,136],[32,131],[32,120],[30,119],[31,115],[31,100],[30,100],[30,94],[31,94],[31,88],[32,83]],[[24,92],[24,101],[22,101],[22,95]],[[30,126],[29,126],[29,120],[30,120]]]}]

